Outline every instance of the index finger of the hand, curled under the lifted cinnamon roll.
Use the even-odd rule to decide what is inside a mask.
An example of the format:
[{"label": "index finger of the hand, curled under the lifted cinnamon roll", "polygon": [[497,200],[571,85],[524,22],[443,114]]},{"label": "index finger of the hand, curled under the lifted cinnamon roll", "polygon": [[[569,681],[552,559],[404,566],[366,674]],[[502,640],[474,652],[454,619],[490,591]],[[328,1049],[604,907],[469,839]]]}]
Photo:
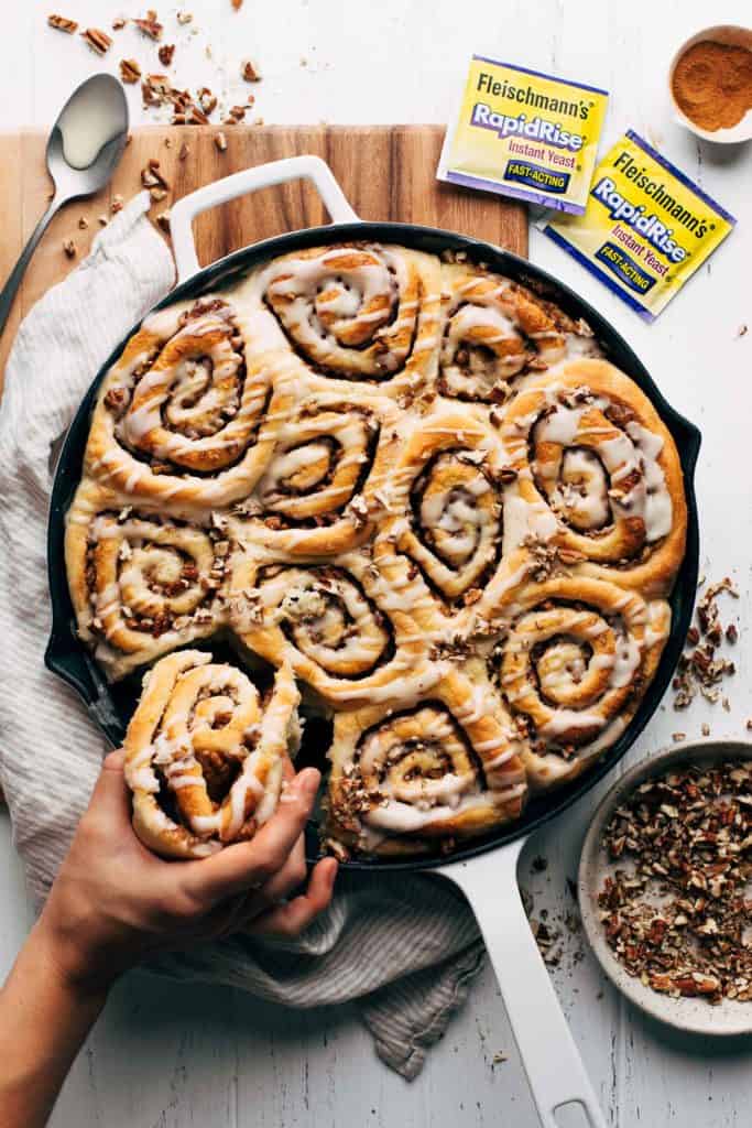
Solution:
[{"label": "index finger of the hand, curled under the lifted cinnamon roll", "polygon": [[284,865],[311,812],[320,772],[306,768],[287,785],[280,804],[249,843],[228,846],[211,857],[182,866],[183,888],[207,908],[263,884]]}]

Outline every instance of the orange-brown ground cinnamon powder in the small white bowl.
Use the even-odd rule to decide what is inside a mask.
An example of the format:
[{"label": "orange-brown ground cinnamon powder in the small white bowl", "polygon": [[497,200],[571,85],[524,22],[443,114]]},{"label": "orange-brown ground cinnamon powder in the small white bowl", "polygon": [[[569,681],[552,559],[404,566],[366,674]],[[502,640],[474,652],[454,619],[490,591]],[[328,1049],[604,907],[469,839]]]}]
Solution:
[{"label": "orange-brown ground cinnamon powder in the small white bowl", "polygon": [[752,51],[701,39],[680,58],[671,89],[679,108],[700,129],[732,129],[752,109]]}]

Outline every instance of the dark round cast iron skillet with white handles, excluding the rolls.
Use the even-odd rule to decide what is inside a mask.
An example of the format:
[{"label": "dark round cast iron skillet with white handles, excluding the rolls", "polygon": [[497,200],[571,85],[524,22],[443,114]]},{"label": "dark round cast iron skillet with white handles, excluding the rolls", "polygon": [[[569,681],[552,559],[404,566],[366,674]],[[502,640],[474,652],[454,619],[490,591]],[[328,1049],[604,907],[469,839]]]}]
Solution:
[{"label": "dark round cast iron skillet with white handles, excluding the rolls", "polygon": [[[308,177],[317,185],[333,220],[343,219],[347,222],[335,222],[333,226],[267,239],[228,255],[204,270],[198,270],[191,228],[196,214],[254,188],[301,176]],[[567,287],[516,255],[461,235],[412,223],[371,223],[357,220],[328,166],[316,157],[298,157],[247,169],[202,188],[179,201],[172,209],[171,228],[179,282],[177,288],[160,302],[158,309],[179,299],[198,298],[220,283],[227,283],[233,276],[276,255],[322,243],[359,239],[396,243],[433,254],[446,250],[466,252],[470,261],[487,263],[492,270],[525,282],[545,297],[551,298],[572,317],[584,317],[604,347],[609,360],[627,372],[646,393],[673,435],[687,491],[689,511],[687,553],[671,597],[671,636],[656,676],[621,738],[578,779],[568,786],[533,799],[519,821],[460,846],[452,853],[449,863],[444,862],[442,855],[426,855],[407,861],[377,858],[344,863],[348,870],[369,871],[436,869],[441,865],[443,874],[461,884],[472,901],[494,959],[541,1121],[555,1128],[554,1109],[563,1103],[576,1101],[583,1107],[583,1112],[586,1112],[590,1122],[600,1125],[603,1121],[595,1098],[566,1022],[556,1004],[548,976],[530,940],[524,914],[517,904],[519,897],[514,896],[515,865],[527,836],[566,810],[621,759],[653,716],[669,686],[690,625],[697,587],[699,544],[693,473],[700,448],[700,433],[666,403],[626,341],[596,310]],[[134,331],[129,332],[127,337],[132,332]],[[78,640],[65,578],[63,538],[65,512],[81,476],[89,420],[97,389],[124,344],[125,341],[117,346],[99,371],[68,432],[52,488],[47,556],[53,626],[45,654],[46,664],[80,695],[94,720],[113,744],[122,741],[139,694],[140,679],[132,677],[117,686],[108,686],[86,647]],[[218,650],[216,645],[212,646],[211,641],[205,645],[214,652]],[[315,856],[318,853],[317,826],[311,823],[309,831],[309,855]],[[508,848],[498,851],[498,847],[503,846]],[[488,852],[494,849],[497,853],[490,856]],[[471,860],[472,865],[469,864]],[[514,975],[508,973],[510,967],[514,969]],[[539,1012],[538,1019],[536,1008]],[[547,1050],[543,1042],[548,1042],[549,1039],[551,1045]]]}]

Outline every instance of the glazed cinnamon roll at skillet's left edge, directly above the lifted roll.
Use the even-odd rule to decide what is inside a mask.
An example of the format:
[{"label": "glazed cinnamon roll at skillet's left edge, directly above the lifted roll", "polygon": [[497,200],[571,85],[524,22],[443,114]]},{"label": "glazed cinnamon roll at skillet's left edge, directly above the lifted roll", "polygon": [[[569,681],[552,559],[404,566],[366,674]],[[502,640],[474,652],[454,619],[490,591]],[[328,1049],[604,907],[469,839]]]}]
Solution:
[{"label": "glazed cinnamon roll at skillet's left edge, directly above the lifted roll", "polygon": [[109,677],[216,632],[229,549],[206,529],[79,494],[65,536],[69,584],[79,634]]}]

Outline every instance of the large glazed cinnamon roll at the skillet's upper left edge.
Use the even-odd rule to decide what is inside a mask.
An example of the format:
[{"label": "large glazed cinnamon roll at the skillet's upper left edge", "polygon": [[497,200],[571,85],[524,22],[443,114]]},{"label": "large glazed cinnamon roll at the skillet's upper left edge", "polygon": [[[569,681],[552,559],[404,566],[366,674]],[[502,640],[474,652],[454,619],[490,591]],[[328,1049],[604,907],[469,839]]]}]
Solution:
[{"label": "large glazed cinnamon roll at the skillet's upper left edge", "polygon": [[[86,465],[112,490],[212,509],[245,496],[271,452],[271,369],[223,298],[149,317],[108,373]],[[262,358],[265,354],[262,353]]]}]

